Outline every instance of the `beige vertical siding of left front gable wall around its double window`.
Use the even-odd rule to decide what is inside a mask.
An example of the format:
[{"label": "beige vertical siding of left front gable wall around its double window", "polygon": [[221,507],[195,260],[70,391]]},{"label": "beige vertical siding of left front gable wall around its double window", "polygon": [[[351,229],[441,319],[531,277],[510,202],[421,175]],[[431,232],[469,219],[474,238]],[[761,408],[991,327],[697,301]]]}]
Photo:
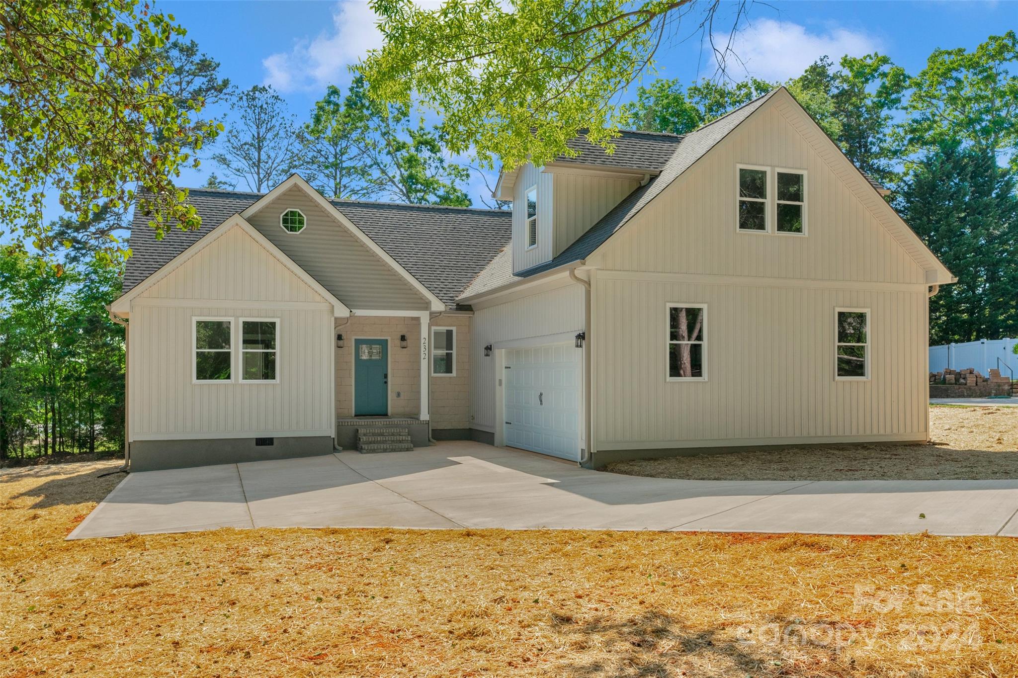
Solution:
[{"label": "beige vertical siding of left front gable wall around its double window", "polygon": [[[195,317],[278,318],[279,383],[194,384]],[[332,304],[234,227],[131,301],[131,439],[331,437],[332,327]]]}]

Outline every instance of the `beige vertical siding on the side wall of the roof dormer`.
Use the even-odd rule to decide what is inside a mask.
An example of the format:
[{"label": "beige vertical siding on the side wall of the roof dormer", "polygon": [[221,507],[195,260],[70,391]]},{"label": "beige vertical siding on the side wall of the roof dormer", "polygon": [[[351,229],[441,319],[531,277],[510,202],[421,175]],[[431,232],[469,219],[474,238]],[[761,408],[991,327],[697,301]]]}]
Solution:
[{"label": "beige vertical siding on the side wall of the roof dormer", "polygon": [[563,169],[557,169],[553,176],[553,257],[558,257],[639,186],[635,179],[570,174]]}]

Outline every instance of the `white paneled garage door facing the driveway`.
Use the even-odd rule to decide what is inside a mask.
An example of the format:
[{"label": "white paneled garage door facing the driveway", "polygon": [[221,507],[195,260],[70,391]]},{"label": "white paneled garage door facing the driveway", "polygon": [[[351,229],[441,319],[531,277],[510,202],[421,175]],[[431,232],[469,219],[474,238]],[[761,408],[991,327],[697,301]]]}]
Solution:
[{"label": "white paneled garage door facing the driveway", "polygon": [[506,445],[579,460],[582,357],[572,344],[506,349]]}]

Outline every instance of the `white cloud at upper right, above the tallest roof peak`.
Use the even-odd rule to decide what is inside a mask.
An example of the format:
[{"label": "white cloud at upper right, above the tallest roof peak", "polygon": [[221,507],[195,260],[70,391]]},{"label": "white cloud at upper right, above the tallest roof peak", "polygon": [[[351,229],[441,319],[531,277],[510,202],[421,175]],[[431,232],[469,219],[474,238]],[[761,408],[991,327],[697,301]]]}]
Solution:
[{"label": "white cloud at upper right, above the tallest roof peak", "polygon": [[825,54],[837,63],[845,54],[862,56],[879,49],[878,40],[865,33],[841,26],[810,33],[798,23],[765,18],[737,34],[732,45],[735,57],[728,59],[727,68],[736,79],[751,75],[787,80]]}]

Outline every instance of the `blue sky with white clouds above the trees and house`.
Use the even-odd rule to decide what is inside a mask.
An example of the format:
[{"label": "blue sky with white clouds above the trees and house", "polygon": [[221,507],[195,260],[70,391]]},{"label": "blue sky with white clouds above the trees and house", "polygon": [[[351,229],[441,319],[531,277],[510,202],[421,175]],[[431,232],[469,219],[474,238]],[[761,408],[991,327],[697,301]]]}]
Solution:
[{"label": "blue sky with white clouds above the trees and house", "polygon": [[[723,5],[723,26],[730,25],[734,3]],[[188,38],[222,63],[222,73],[240,88],[273,84],[298,119],[306,118],[329,83],[349,82],[347,70],[367,49],[381,45],[366,2],[167,0],[156,8],[172,13]],[[972,49],[988,35],[1018,24],[1013,2],[770,2],[749,8],[735,41],[745,67],[731,66],[733,77],[772,80],[794,76],[828,54],[872,51],[888,54],[909,72],[922,68],[936,48]],[[659,52],[658,75],[691,81],[710,76],[716,64],[693,24],[671,32]],[[653,77],[653,75],[652,75]],[[635,89],[635,88],[633,88]],[[228,123],[228,121],[227,121]],[[213,163],[188,171],[182,185],[201,185]],[[222,174],[222,173],[220,173]],[[244,188],[243,185],[238,188]],[[471,196],[479,204],[484,183],[475,177]]]}]

